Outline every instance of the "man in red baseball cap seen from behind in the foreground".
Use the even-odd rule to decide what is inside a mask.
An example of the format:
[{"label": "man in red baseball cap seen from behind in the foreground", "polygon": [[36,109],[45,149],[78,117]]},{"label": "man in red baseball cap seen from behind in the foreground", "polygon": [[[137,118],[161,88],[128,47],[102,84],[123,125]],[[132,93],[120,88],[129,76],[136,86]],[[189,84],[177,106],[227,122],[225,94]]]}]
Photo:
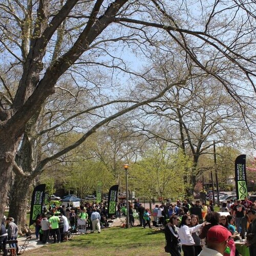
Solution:
[{"label": "man in red baseball cap seen from behind in the foreground", "polygon": [[231,236],[232,234],[221,225],[211,227],[207,232],[207,246],[204,246],[199,256],[223,256]]}]

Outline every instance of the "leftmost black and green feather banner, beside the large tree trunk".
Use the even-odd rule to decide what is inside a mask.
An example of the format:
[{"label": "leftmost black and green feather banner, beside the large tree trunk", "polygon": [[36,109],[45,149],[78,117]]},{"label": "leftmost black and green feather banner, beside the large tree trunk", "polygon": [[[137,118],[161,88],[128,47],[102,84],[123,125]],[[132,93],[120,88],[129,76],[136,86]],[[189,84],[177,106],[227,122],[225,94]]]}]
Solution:
[{"label": "leftmost black and green feather banner, beside the large tree trunk", "polygon": [[42,212],[42,205],[45,202],[45,189],[46,184],[40,184],[34,188],[31,199],[29,225],[32,225],[35,222],[37,215]]}]

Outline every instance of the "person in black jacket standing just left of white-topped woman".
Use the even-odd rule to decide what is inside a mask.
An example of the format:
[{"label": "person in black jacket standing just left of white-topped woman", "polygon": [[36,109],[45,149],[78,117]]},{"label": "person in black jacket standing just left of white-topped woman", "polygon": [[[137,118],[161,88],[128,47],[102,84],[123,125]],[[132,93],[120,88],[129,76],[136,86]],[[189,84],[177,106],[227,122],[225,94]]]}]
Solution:
[{"label": "person in black jacket standing just left of white-topped woman", "polygon": [[170,217],[164,229],[166,241],[165,252],[169,252],[172,256],[181,256],[181,242],[176,228],[179,221],[180,218],[177,215],[173,215]]}]

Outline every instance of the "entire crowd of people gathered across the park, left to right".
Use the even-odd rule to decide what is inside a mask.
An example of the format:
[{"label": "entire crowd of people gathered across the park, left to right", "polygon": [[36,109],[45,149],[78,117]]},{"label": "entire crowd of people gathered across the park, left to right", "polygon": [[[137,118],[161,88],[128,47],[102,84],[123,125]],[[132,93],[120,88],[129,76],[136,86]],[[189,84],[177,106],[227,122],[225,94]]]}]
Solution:
[{"label": "entire crowd of people gathered across the park, left to right", "polygon": [[[108,216],[106,202],[86,202],[80,207],[57,207],[55,204],[43,206],[42,214],[35,220],[36,239],[43,244],[49,241],[60,243],[67,241],[70,231],[77,231],[78,220],[85,220],[86,230],[98,233],[108,227],[108,219],[129,215],[130,225],[134,226],[134,213],[139,217],[139,224],[146,228],[164,227],[165,251],[172,256],[235,256],[234,240],[246,239],[250,256],[256,256],[256,202],[245,198],[230,200],[223,203],[220,213],[214,211],[212,202],[209,204],[190,203],[177,200],[158,205],[150,211],[137,201],[129,204],[127,212],[126,201],[119,202],[115,216]],[[225,214],[221,214],[225,212]],[[3,219],[0,233],[0,244],[17,238],[18,228],[13,218]],[[14,244],[11,246],[15,246]],[[226,252],[225,252],[226,251]]]}]

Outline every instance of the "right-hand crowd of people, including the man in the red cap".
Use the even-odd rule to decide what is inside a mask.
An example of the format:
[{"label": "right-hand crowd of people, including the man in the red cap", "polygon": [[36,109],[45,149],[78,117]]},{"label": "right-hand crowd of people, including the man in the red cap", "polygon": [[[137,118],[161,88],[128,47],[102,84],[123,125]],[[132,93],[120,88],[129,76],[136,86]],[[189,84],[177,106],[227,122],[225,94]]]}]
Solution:
[{"label": "right-hand crowd of people, including the man in the red cap", "polygon": [[[186,201],[181,204],[179,200],[176,205],[166,206],[168,210],[173,210],[170,210],[172,214],[165,226],[166,252],[172,256],[181,256],[181,251],[184,256],[235,256],[239,253],[234,241],[244,241],[246,238],[245,246],[249,247],[250,256],[256,255],[255,202],[247,198],[242,202],[229,201],[222,204],[220,212],[199,202],[189,206]],[[228,215],[222,215],[221,212],[227,212]],[[161,217],[158,222],[162,223]]]}]

